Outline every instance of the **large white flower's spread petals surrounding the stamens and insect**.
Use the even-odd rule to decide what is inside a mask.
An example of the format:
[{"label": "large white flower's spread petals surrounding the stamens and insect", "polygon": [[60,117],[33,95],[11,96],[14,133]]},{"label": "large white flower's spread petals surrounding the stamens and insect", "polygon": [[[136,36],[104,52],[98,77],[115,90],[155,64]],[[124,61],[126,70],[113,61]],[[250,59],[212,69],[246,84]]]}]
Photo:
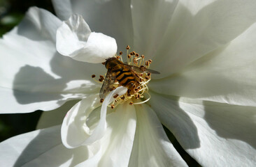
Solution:
[{"label": "large white flower's spread petals surrounding the stamens and insect", "polygon": [[[161,75],[150,81],[148,104],[119,105],[106,115],[101,134],[104,128],[97,127],[105,120],[97,120],[106,107],[98,107],[101,85],[90,76],[106,69],[58,54],[55,35],[62,22],[31,8],[0,40],[1,111],[51,110],[83,98],[64,119],[62,127],[69,126],[62,138],[72,148],[85,145],[65,148],[60,127],[50,127],[3,141],[1,164],[185,166],[162,122],[202,166],[255,166],[255,1],[53,2],[60,19],[83,15],[90,29],[115,38],[118,47],[129,44],[152,58],[152,69]],[[66,47],[66,55],[79,54]],[[53,125],[66,111],[56,113]]]}]

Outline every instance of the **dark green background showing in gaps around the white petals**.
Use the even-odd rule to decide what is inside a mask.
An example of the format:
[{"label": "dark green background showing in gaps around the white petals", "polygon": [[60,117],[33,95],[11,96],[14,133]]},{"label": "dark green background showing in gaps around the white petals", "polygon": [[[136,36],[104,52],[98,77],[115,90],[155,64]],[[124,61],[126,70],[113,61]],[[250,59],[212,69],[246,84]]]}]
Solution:
[{"label": "dark green background showing in gaps around the white petals", "polygon": [[[16,26],[24,17],[24,13],[31,6],[38,6],[54,13],[50,0],[0,0],[0,37]],[[0,114],[0,142],[12,136],[31,132],[36,129],[36,124],[43,111],[35,111],[33,113],[15,113]],[[183,150],[176,138],[164,127],[167,136],[173,143],[174,147],[180,155],[185,159],[189,166],[199,166],[189,154]]]}]

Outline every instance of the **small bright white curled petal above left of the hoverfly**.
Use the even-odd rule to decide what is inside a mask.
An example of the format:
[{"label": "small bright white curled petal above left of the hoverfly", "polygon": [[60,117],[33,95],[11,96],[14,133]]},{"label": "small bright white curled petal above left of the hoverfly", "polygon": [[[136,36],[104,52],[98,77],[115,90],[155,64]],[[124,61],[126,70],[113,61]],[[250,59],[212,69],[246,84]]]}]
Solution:
[{"label": "small bright white curled petal above left of the hoverfly", "polygon": [[57,51],[76,61],[102,63],[117,51],[114,38],[103,33],[91,33],[81,15],[72,15],[57,30]]}]

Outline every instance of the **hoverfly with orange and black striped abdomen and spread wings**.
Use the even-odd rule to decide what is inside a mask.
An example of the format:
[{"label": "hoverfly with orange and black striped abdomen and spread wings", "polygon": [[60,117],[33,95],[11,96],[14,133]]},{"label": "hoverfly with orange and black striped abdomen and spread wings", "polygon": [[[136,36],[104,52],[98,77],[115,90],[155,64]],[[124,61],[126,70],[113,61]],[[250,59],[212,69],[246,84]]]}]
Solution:
[{"label": "hoverfly with orange and black striped abdomen and spread wings", "polygon": [[134,89],[141,85],[140,74],[143,74],[144,72],[160,74],[155,70],[147,69],[143,65],[141,65],[141,67],[127,65],[115,57],[108,58],[105,62],[105,67],[108,69],[108,72],[104,79],[104,84],[101,86],[101,90],[99,92],[99,97],[101,99],[104,99],[106,95],[113,90],[115,81],[118,81],[120,86],[127,87],[129,93],[132,95],[132,93],[134,93]]}]

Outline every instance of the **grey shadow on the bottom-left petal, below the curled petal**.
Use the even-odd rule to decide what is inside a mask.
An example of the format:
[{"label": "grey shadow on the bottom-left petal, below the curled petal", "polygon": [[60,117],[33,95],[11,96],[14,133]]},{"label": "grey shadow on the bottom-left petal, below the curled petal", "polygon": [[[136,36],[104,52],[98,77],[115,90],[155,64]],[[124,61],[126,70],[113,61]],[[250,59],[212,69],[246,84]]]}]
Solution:
[{"label": "grey shadow on the bottom-left petal, below the curled petal", "polygon": [[61,166],[64,163],[76,166],[88,156],[89,152],[86,147],[65,148],[60,137],[60,126],[50,127],[42,129],[34,137],[15,161],[14,167],[24,164],[28,166],[38,166],[38,164],[39,166]]}]

